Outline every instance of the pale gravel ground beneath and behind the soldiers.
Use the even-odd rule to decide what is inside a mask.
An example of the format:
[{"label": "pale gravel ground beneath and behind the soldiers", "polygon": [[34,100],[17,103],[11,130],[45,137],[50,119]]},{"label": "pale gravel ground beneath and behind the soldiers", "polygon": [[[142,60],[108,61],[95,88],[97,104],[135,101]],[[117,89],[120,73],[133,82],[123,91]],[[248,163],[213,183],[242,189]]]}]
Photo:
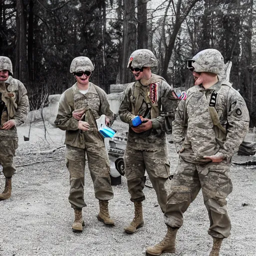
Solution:
[{"label": "pale gravel ground beneath and behind the soldiers", "polygon": [[[114,125],[120,129],[120,122]],[[67,200],[69,183],[64,164],[64,132],[47,127],[44,139],[41,122],[33,123],[29,141],[27,126],[18,127],[19,148],[15,157],[17,165],[36,161],[60,159],[17,167],[13,175],[13,192],[9,200],[0,201],[0,255],[145,255],[145,248],[158,242],[166,232],[163,215],[153,189],[145,187],[143,202],[145,224],[136,233],[128,235],[123,227],[133,217],[127,183],[113,186],[114,198],[109,202],[115,226],[107,227],[96,218],[98,202],[94,198],[92,181],[86,167],[83,208],[85,227],[82,233],[73,233],[73,210]],[[51,139],[50,139],[50,138]],[[171,140],[171,135],[168,135]],[[177,155],[174,145],[168,143],[169,156],[175,168]],[[228,196],[228,209],[232,222],[231,235],[221,247],[221,255],[249,256],[256,251],[256,168],[233,165],[231,167],[233,192]],[[4,177],[0,172],[0,188]],[[184,225],[177,234],[176,253],[163,255],[208,255],[211,237],[207,234],[207,211],[201,193],[184,214]]]}]

